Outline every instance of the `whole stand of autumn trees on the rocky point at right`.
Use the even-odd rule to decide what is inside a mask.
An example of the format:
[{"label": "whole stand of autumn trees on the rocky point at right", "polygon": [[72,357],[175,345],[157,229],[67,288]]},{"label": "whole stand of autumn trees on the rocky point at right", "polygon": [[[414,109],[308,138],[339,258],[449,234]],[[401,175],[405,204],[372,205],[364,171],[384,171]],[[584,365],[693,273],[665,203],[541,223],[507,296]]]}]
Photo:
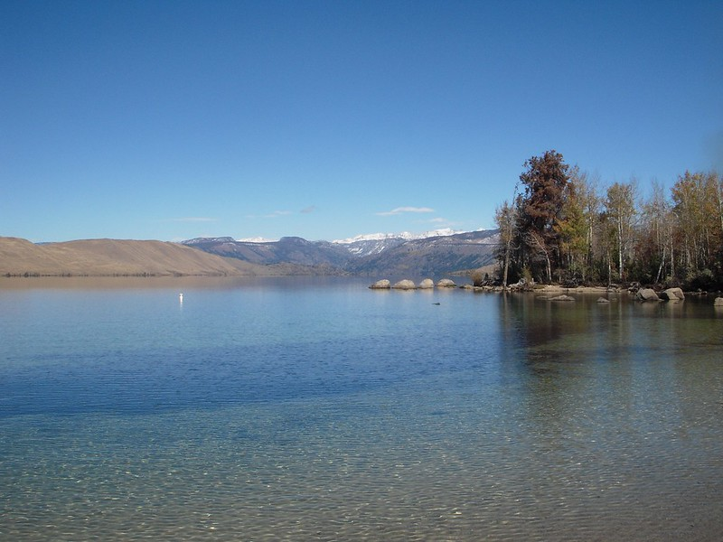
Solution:
[{"label": "whole stand of autumn trees on the rocky point at right", "polygon": [[653,182],[598,180],[550,150],[524,164],[512,201],[495,213],[500,279],[562,285],[723,287],[723,179],[679,176],[670,193]]}]

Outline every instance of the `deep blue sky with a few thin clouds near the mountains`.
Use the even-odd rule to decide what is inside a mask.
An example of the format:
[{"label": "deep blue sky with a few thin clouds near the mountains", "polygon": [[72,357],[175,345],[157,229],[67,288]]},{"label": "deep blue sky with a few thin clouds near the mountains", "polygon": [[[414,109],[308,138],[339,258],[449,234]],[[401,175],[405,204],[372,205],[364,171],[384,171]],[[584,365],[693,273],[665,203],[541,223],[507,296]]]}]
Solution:
[{"label": "deep blue sky with a few thin clouds near the mountains", "polygon": [[723,2],[0,3],[0,236],[489,229],[549,149],[723,172]]}]

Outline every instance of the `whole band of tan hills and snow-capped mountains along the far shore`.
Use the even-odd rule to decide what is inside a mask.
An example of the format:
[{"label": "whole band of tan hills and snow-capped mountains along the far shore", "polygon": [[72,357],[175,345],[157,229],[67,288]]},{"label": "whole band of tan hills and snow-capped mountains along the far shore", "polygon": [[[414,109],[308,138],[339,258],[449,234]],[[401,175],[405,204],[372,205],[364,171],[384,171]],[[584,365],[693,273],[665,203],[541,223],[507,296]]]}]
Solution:
[{"label": "whole band of tan hills and snow-capped mountains along the far shore", "polygon": [[[442,232],[446,233],[446,232]],[[3,276],[441,276],[494,262],[496,230],[338,241],[194,238],[182,243],[88,239],[36,245],[0,238]]]}]

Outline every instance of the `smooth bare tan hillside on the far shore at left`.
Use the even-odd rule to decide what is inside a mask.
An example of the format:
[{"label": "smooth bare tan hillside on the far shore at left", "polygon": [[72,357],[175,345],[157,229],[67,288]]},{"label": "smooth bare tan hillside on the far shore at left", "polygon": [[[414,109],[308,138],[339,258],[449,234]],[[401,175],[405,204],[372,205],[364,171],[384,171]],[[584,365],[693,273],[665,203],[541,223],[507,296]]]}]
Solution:
[{"label": "smooth bare tan hillside on the far shore at left", "polygon": [[263,275],[263,267],[163,241],[89,239],[34,245],[0,238],[0,275]]}]

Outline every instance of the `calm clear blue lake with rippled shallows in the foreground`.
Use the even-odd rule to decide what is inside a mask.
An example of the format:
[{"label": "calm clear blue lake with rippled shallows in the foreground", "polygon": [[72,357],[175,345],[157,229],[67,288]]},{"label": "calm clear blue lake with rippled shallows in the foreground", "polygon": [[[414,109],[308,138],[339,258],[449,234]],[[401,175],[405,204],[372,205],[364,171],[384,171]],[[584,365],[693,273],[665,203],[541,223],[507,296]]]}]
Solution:
[{"label": "calm clear blue lake with rippled shallows in the foreground", "polygon": [[0,539],[720,539],[711,297],[369,283],[0,280]]}]

